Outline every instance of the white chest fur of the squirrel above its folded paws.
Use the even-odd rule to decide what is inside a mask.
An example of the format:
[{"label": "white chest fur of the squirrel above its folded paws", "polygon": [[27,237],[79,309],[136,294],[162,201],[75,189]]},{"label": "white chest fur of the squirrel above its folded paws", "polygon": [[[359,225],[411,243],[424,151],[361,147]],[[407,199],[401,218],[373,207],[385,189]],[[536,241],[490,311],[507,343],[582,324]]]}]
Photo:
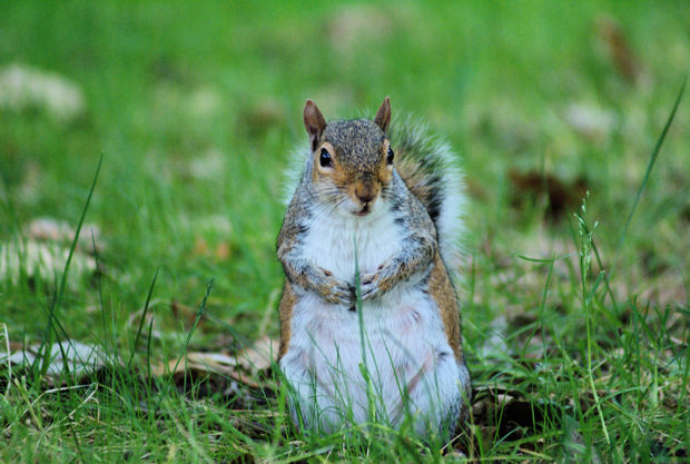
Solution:
[{"label": "white chest fur of the squirrel above its folded paws", "polygon": [[397,255],[401,244],[402,231],[391,215],[322,218],[309,225],[303,243],[307,259],[347,282],[354,282],[355,253],[365,274]]}]

